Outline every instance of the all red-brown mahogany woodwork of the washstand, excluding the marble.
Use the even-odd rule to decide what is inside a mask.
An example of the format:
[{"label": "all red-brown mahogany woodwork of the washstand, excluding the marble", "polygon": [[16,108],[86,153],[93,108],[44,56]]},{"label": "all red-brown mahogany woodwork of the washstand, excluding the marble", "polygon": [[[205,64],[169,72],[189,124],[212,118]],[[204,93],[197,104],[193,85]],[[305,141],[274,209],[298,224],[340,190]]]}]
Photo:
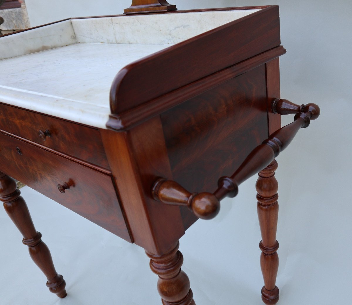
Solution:
[{"label": "all red-brown mahogany woodwork of the washstand, excluding the marble", "polygon": [[[131,9],[168,5],[133,0]],[[195,305],[178,240],[258,172],[262,298],[278,300],[274,158],[320,110],[280,99],[278,57],[286,50],[278,6],[247,9],[255,8],[262,9],[118,72],[107,130],[0,103],[0,170],[143,247],[164,305]],[[212,10],[228,9],[201,11]],[[284,114],[295,114],[294,122],[281,128]],[[14,222],[25,223],[19,229],[29,230],[24,243],[48,287],[63,297],[64,281],[9,179],[0,176],[1,198]],[[20,213],[11,210],[17,205]]]}]

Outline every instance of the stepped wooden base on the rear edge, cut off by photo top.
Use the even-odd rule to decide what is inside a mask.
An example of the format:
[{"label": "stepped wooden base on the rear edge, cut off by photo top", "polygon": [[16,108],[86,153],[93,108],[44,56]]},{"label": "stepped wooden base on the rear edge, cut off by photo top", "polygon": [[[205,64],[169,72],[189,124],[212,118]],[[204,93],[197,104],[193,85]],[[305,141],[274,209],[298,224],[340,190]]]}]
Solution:
[{"label": "stepped wooden base on the rear edge, cut off by photo top", "polygon": [[176,11],[176,5],[165,0],[132,0],[129,8],[124,9],[125,14],[158,13]]}]

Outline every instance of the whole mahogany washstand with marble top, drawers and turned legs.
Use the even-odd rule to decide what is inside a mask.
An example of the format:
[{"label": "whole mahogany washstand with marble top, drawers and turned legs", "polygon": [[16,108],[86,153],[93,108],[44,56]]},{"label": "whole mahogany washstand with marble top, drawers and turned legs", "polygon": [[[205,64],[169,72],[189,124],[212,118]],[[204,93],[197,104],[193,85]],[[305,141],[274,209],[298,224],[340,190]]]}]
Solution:
[{"label": "whole mahogany washstand with marble top, drawers and turned legs", "polygon": [[262,299],[276,304],[274,158],[319,107],[280,99],[278,6],[175,10],[134,0],[0,38],[0,199],[58,297],[13,178],[143,247],[162,303],[194,305],[178,240],[259,172]]}]

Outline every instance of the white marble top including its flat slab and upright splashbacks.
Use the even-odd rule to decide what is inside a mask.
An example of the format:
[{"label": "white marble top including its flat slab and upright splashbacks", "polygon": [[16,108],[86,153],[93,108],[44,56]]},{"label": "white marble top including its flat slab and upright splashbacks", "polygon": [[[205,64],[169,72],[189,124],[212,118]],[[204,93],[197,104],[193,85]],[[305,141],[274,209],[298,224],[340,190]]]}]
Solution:
[{"label": "white marble top including its flat slab and upright splashbacks", "polygon": [[0,37],[0,102],[106,128],[124,66],[256,11],[71,19]]}]

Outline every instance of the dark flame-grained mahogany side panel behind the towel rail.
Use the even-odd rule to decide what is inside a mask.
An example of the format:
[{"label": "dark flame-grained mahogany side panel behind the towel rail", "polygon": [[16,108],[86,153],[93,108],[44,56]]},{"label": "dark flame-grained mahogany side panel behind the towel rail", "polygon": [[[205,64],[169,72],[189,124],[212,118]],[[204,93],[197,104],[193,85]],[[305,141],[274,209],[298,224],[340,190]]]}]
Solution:
[{"label": "dark flame-grained mahogany side panel behind the towel rail", "polygon": [[[268,137],[265,66],[161,115],[174,181],[190,192],[216,189]],[[181,207],[187,229],[196,217]]]}]

